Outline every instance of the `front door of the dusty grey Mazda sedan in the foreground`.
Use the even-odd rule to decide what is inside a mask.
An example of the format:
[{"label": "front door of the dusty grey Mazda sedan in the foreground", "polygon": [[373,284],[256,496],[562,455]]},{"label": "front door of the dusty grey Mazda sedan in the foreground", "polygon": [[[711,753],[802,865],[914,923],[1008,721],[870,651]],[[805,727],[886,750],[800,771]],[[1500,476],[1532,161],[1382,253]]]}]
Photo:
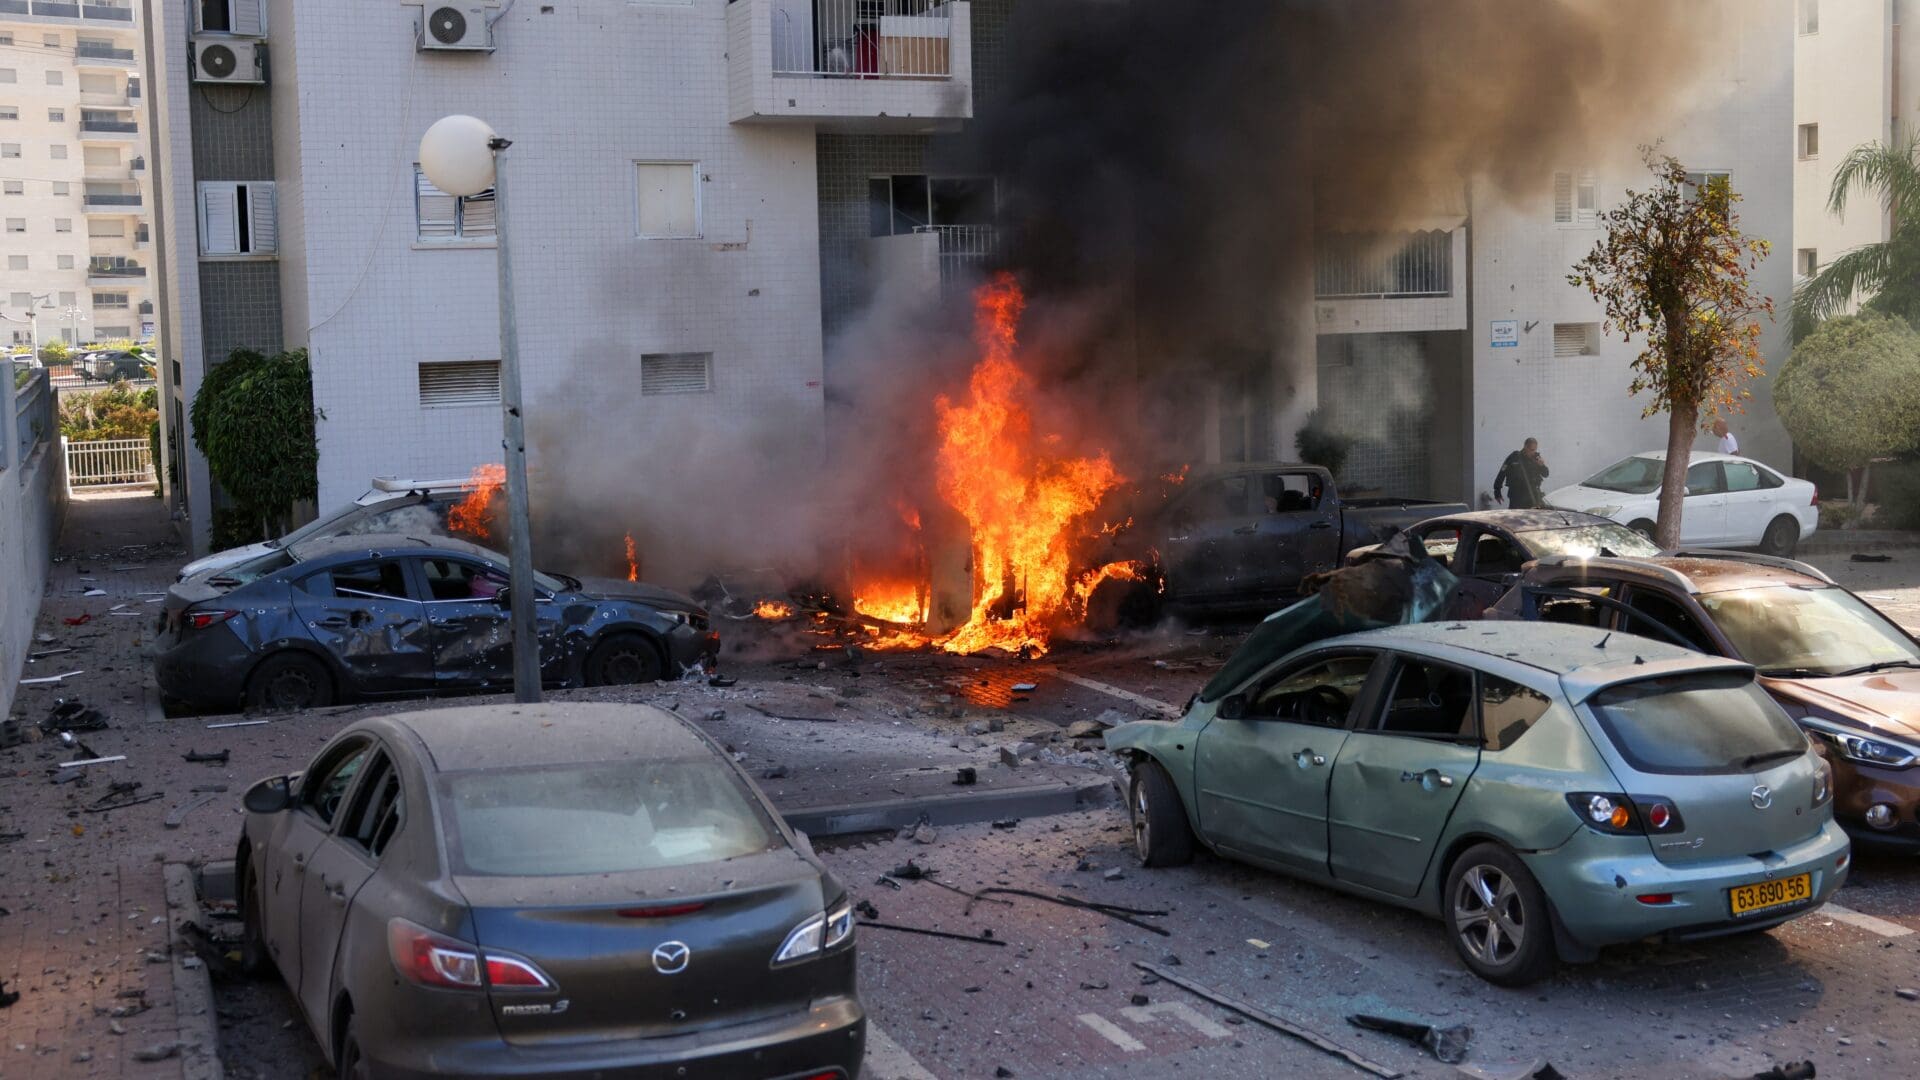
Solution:
[{"label": "front door of the dusty grey Mazda sedan in the foreground", "polygon": [[301,774],[294,803],[275,819],[273,842],[265,853],[267,869],[259,882],[261,920],[267,953],[290,988],[300,986],[305,938],[301,903],[309,863],[332,832],[334,819],[340,817],[371,748],[372,736],[363,734],[346,736],[324,748]]}]

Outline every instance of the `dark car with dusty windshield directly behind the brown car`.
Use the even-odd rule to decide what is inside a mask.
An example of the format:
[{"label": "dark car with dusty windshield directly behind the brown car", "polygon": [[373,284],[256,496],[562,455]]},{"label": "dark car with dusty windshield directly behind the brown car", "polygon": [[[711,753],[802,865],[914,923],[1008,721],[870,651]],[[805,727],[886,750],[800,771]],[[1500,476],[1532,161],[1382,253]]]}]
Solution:
[{"label": "dark car with dusty windshield directly behind the brown car", "polygon": [[[1448,517],[1428,517],[1407,527],[1455,577],[1494,584],[1513,584],[1521,567],[1548,555],[1657,555],[1659,544],[1605,517],[1571,509],[1480,509]],[[1379,544],[1354,548],[1354,563]]]}]

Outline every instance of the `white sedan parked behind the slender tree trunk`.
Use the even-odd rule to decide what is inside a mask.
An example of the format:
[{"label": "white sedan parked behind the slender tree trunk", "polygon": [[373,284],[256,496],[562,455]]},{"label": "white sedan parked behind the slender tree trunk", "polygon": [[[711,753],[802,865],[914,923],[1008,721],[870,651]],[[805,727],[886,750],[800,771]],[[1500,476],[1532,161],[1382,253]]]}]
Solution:
[{"label": "white sedan parked behind the slender tree trunk", "polygon": [[[1611,517],[1653,536],[1665,471],[1665,452],[1636,454],[1574,486],[1548,492],[1548,505]],[[1811,482],[1732,454],[1688,455],[1682,546],[1761,548],[1768,555],[1789,555],[1818,527],[1820,492]]]}]

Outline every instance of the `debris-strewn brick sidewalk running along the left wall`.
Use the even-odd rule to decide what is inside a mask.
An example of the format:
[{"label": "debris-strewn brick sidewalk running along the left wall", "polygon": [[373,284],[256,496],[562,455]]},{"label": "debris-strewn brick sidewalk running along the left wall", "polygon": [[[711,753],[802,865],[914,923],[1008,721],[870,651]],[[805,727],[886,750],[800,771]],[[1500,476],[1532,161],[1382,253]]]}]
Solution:
[{"label": "debris-strewn brick sidewalk running along the left wall", "polygon": [[[13,717],[38,736],[56,701],[79,698],[108,728],[77,738],[129,759],[58,769],[84,751],[52,738],[0,751],[0,851],[10,871],[0,880],[0,978],[19,994],[0,1009],[8,1080],[219,1076],[215,1047],[182,1045],[182,1020],[209,1019],[180,1017],[175,999],[177,969],[190,967],[188,953],[169,945],[161,853],[177,855],[161,819],[177,794],[123,811],[88,809],[119,801],[108,799],[111,784],[150,776],[134,748],[165,721],[142,651],[157,603],[144,600],[167,588],[182,559],[167,509],[150,492],[73,498],[35,626],[35,650],[71,651],[29,663],[25,678],[81,675],[52,686],[23,682]],[[67,773],[84,776],[54,782]]]}]

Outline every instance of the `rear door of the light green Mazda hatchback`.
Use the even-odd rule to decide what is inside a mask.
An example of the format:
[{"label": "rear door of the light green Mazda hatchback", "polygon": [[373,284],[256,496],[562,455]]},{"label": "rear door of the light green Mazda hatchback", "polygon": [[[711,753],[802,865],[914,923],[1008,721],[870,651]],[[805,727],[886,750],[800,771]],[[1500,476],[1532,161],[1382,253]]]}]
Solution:
[{"label": "rear door of the light green Mazda hatchback", "polygon": [[1329,865],[1336,878],[1413,896],[1480,765],[1476,680],[1465,667],[1400,655],[1384,688],[1332,763]]}]

